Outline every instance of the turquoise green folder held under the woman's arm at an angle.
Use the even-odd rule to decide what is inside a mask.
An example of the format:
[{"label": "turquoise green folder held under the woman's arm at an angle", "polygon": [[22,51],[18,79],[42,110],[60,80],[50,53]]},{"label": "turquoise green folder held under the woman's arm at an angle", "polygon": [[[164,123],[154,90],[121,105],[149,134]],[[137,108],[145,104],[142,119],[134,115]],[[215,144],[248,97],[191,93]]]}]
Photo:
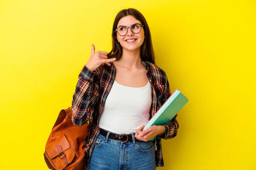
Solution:
[{"label": "turquoise green folder held under the woman's arm at an angle", "polygon": [[[148,121],[143,130],[146,130],[152,125],[163,125],[166,122],[170,122],[188,101],[189,99],[176,89],[157,113]],[[151,141],[154,139],[155,137],[152,138]]]}]

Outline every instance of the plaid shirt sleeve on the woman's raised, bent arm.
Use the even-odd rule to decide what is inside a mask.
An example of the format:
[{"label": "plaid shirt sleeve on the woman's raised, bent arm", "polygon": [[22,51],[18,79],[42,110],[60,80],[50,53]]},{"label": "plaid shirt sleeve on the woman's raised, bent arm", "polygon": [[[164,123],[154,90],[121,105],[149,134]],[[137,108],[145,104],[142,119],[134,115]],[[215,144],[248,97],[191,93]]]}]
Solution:
[{"label": "plaid shirt sleeve on the woman's raised, bent arm", "polygon": [[91,71],[84,65],[79,74],[72,100],[72,122],[81,126],[93,119],[94,106],[99,99],[100,67]]}]

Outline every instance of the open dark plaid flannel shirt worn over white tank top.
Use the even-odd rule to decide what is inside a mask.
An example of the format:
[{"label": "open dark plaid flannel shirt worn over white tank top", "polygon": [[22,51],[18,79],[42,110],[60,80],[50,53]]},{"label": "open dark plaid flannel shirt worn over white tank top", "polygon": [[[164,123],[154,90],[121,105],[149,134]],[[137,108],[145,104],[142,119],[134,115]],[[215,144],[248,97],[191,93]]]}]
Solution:
[{"label": "open dark plaid flannel shirt worn over white tank top", "polygon": [[[147,72],[147,77],[151,83],[152,104],[150,108],[150,116],[158,111],[163,103],[171,96],[169,82],[165,71],[151,62],[142,59],[144,68]],[[91,123],[91,130],[87,138],[84,140],[87,143],[85,153],[88,161],[90,161],[96,139],[99,136],[99,117],[103,111],[105,101],[111,91],[113,85],[116,68],[113,62],[111,66],[103,63],[105,69],[102,72],[99,81],[100,67],[95,71],[89,70],[85,65],[79,74],[79,79],[76,85],[76,92],[73,94],[72,100],[72,121],[74,125],[81,126],[87,121]],[[161,139],[171,139],[177,135],[179,123],[176,120],[177,114],[170,121],[165,123],[165,131],[159,134],[154,139],[155,160],[156,166],[163,167],[163,153]]]}]

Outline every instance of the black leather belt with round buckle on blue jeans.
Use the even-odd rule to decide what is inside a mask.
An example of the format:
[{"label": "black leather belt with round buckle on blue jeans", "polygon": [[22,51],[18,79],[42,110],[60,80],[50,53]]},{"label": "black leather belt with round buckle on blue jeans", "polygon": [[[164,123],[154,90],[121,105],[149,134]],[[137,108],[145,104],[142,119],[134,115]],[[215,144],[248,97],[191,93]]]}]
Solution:
[{"label": "black leather belt with round buckle on blue jeans", "polygon": [[[108,131],[102,129],[102,128],[99,128],[100,130],[100,134],[103,135],[103,136],[107,136],[108,134]],[[108,136],[109,139],[114,139],[114,140],[118,140],[118,141],[121,141],[123,143],[125,142],[132,142],[132,136],[131,135],[127,135],[125,133],[122,133],[122,134],[117,134],[117,133],[109,133],[109,136]],[[136,139],[134,137],[135,141],[139,141],[138,139]]]}]

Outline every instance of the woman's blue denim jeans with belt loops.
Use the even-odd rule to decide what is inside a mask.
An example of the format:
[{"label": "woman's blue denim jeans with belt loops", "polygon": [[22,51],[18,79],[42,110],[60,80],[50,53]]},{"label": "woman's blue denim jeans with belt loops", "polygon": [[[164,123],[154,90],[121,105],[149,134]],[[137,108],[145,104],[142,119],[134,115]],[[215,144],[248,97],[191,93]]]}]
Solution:
[{"label": "woman's blue denim jeans with belt loops", "polygon": [[[107,130],[108,131],[108,130]],[[154,144],[152,141],[120,142],[108,139],[107,136],[98,136],[93,149],[88,170],[156,170]]]}]

